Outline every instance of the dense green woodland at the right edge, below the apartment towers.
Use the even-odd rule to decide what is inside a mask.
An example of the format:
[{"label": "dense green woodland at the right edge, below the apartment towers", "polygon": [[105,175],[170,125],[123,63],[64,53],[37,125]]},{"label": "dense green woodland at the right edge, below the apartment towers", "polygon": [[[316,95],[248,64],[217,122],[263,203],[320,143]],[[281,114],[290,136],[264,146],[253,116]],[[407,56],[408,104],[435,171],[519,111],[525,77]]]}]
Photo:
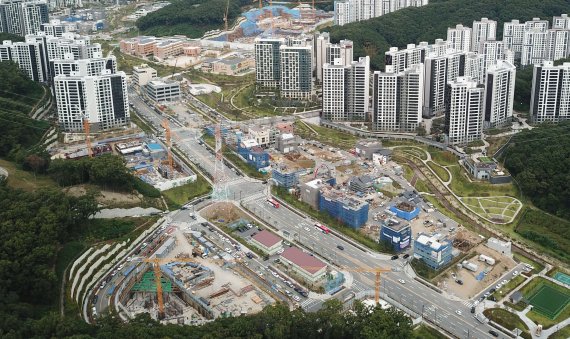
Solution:
[{"label": "dense green woodland at the right edge, below the apartment towers", "polygon": [[503,160],[537,207],[570,218],[570,122],[543,124],[513,136]]}]

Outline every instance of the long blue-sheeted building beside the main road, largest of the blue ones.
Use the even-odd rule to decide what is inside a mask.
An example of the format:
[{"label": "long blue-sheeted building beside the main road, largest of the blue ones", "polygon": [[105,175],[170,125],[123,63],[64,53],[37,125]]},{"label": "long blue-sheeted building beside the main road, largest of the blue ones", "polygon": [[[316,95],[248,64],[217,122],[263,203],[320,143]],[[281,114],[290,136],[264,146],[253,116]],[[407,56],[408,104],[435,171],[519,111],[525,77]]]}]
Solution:
[{"label": "long blue-sheeted building beside the main road, largest of the blue ones", "polygon": [[329,213],[352,228],[359,228],[368,221],[367,202],[330,187],[321,189],[319,210]]}]

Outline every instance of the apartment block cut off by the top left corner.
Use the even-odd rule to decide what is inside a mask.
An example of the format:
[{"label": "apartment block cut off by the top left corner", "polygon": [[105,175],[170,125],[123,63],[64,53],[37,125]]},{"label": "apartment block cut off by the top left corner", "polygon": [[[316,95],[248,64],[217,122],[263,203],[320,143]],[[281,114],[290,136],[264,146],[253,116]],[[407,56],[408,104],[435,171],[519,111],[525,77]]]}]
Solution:
[{"label": "apartment block cut off by the top left corner", "polygon": [[0,2],[0,32],[20,36],[36,34],[49,21],[44,1],[9,0]]}]

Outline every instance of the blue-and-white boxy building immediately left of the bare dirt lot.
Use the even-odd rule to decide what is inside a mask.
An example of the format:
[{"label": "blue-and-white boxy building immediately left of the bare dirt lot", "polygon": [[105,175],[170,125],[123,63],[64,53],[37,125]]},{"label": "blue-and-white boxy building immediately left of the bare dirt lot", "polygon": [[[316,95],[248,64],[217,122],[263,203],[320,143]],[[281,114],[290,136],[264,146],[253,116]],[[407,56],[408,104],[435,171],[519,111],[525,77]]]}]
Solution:
[{"label": "blue-and-white boxy building immediately left of the bare dirt lot", "polygon": [[414,257],[434,270],[449,264],[453,259],[453,246],[442,234],[419,233],[414,241]]}]

